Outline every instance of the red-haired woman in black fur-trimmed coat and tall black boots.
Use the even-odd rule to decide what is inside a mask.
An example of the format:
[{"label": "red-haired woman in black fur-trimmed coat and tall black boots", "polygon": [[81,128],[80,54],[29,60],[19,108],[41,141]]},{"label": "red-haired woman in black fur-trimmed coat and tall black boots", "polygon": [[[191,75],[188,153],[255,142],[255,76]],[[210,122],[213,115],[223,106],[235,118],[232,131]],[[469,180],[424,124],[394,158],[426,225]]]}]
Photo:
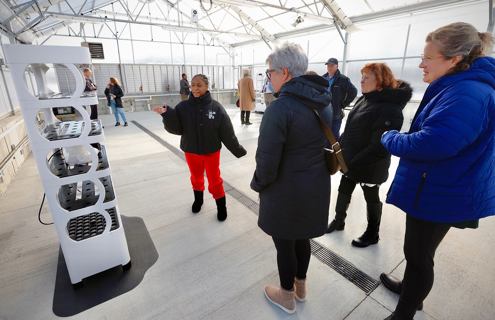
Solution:
[{"label": "red-haired woman in black fur-trimmed coat and tall black boots", "polygon": [[359,183],[366,200],[368,227],[352,244],[364,248],[379,240],[383,203],[378,192],[389,177],[392,157],[380,139],[384,132],[402,127],[402,109],[411,99],[412,88],[396,80],[384,62],[367,63],[361,74],[363,95],[349,112],[344,133],[338,139],[348,171],[342,175],[335,218],[327,233],[344,230],[352,191]]}]

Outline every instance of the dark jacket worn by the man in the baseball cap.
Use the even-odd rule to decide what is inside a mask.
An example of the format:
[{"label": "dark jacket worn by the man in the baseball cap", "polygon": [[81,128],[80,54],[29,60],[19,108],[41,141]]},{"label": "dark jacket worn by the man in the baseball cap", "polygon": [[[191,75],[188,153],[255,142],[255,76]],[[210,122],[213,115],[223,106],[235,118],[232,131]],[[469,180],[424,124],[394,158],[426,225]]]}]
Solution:
[{"label": "dark jacket worn by the man in the baseball cap", "polygon": [[[327,76],[328,72],[323,75],[325,79],[327,79]],[[332,83],[330,90],[332,93],[334,120],[340,120],[344,118],[344,111],[342,109],[349,106],[352,100],[354,100],[357,95],[357,89],[350,82],[350,79],[341,74],[340,70],[337,69],[334,74],[334,82]]]}]

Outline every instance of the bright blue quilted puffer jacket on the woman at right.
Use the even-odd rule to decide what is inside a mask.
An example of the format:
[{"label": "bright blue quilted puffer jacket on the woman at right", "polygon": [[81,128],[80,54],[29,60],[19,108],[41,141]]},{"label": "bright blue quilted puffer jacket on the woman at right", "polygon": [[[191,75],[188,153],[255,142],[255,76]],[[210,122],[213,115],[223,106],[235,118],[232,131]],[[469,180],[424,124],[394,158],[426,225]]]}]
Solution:
[{"label": "bright blue quilted puffer jacket on the woman at right", "polygon": [[387,203],[432,222],[495,215],[495,58],[435,80],[410,131],[382,143],[400,157]]}]

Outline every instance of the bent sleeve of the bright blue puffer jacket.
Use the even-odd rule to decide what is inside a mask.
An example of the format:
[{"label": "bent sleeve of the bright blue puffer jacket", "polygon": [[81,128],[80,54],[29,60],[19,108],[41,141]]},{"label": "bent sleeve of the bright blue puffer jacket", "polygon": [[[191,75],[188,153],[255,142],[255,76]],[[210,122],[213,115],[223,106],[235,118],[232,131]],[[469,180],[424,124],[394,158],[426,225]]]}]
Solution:
[{"label": "bent sleeve of the bright blue puffer jacket", "polygon": [[434,162],[453,157],[482,132],[486,120],[486,102],[479,103],[464,92],[462,85],[447,90],[439,98],[418,132],[390,131],[382,137],[393,155],[410,160]]}]

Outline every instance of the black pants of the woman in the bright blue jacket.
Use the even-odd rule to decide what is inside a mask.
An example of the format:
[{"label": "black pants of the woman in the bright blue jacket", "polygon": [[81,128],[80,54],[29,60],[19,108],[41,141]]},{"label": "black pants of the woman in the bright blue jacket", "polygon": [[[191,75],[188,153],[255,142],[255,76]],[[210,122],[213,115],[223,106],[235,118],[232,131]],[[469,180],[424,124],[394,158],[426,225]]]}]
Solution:
[{"label": "black pants of the woman in the bright blue jacket", "polygon": [[400,319],[412,319],[416,309],[433,287],[433,258],[450,227],[413,218],[405,220],[404,256],[407,261],[402,293],[395,313]]}]

